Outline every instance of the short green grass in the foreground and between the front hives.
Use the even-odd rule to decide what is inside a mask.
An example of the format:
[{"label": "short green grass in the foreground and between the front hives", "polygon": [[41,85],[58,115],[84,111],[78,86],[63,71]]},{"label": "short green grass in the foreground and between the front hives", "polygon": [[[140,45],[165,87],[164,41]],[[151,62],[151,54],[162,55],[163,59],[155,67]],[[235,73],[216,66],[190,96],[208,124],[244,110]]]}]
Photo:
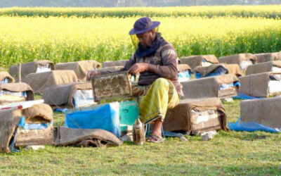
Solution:
[{"label": "short green grass in the foreground and between the front hives", "polygon": [[[235,122],[240,101],[224,103]],[[54,124],[64,115],[55,113]],[[39,151],[0,154],[1,175],[280,175],[281,134],[219,132],[208,142],[188,136],[164,144],[110,148],[46,146]]]}]

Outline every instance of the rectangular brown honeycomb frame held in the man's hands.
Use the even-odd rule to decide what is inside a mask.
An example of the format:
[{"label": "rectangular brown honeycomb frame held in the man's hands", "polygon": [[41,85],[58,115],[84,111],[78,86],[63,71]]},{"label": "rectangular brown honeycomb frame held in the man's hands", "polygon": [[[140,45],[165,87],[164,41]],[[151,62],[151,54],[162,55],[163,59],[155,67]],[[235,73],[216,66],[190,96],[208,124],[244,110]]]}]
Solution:
[{"label": "rectangular brown honeycomb frame held in the man's hands", "polygon": [[96,101],[132,95],[131,75],[127,72],[93,77],[92,86]]}]

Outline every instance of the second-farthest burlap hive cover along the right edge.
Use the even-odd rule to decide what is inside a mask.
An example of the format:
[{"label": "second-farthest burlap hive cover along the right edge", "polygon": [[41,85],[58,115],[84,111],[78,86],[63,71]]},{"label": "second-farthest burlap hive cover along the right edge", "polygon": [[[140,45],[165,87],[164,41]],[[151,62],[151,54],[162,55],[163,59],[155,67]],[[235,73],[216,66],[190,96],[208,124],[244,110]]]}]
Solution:
[{"label": "second-farthest burlap hive cover along the right edge", "polygon": [[281,61],[269,61],[265,63],[249,65],[246,75],[271,72],[273,67],[281,68]]}]

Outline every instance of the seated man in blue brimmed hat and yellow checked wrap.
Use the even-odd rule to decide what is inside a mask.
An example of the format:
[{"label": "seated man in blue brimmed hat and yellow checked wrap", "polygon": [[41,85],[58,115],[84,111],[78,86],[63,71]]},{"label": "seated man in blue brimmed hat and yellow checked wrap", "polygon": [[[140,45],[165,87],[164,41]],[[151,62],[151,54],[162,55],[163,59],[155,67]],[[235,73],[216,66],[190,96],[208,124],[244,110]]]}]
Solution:
[{"label": "seated man in blue brimmed hat and yellow checked wrap", "polygon": [[[128,70],[131,75],[140,74],[138,87],[133,87],[133,95],[139,96],[138,108],[141,121],[154,122],[148,142],[163,142],[162,123],[168,108],[174,108],[180,99],[181,85],[178,82],[178,61],[174,46],[166,42],[155,28],[159,22],[148,17],[140,18],[129,32],[136,52],[120,70]],[[137,42],[134,42],[137,39]],[[92,70],[87,80],[100,75]],[[141,88],[142,87],[142,88]]]}]

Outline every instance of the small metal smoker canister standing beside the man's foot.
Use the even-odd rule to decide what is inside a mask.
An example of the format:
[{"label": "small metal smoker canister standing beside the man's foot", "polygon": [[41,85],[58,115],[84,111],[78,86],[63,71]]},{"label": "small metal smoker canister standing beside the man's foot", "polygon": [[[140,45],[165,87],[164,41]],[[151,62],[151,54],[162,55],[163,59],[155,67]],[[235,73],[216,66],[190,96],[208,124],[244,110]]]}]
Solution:
[{"label": "small metal smoker canister standing beside the man's foot", "polygon": [[133,143],[136,145],[145,143],[145,127],[139,118],[133,124]]}]

